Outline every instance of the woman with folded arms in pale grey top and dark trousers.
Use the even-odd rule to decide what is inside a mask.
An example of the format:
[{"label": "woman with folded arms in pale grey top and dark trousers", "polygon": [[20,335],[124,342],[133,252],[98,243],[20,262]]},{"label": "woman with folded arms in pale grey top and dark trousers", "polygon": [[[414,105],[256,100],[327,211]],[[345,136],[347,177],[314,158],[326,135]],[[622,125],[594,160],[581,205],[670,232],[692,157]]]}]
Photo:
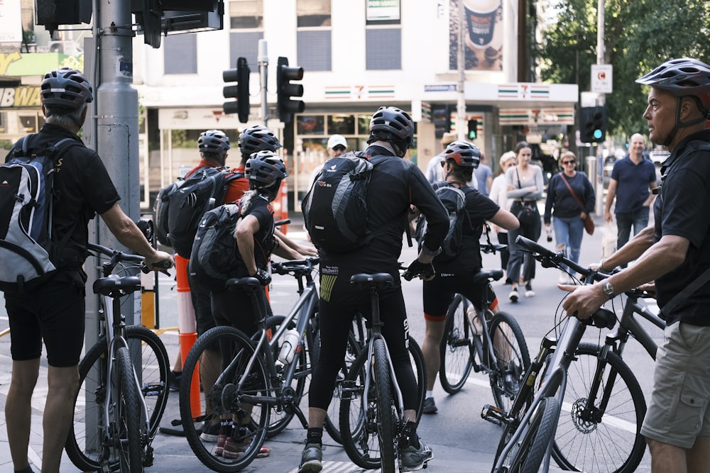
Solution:
[{"label": "woman with folded arms in pale grey top and dark trousers", "polygon": [[[535,296],[532,290],[532,279],[535,277],[535,258],[527,252],[519,251],[515,239],[518,235],[537,241],[540,238],[542,222],[540,211],[537,209],[537,200],[542,197],[542,169],[540,166],[531,165],[532,148],[527,142],[521,141],[515,145],[515,158],[518,165],[506,171],[506,184],[508,199],[513,200],[510,212],[518,217],[520,228],[508,231],[508,277],[513,287],[508,294],[510,302],[518,302],[518,284],[525,285],[525,297]],[[520,267],[523,267],[523,277],[520,279]]]}]

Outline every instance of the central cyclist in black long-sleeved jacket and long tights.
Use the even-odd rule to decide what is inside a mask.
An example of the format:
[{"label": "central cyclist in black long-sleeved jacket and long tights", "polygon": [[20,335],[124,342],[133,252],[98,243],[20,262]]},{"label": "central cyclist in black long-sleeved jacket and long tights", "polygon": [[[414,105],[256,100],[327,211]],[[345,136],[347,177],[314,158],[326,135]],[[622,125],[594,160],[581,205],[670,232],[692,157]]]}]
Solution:
[{"label": "central cyclist in black long-sleeved jacket and long tights", "polygon": [[328,405],[333,397],[337,373],[345,357],[345,348],[352,319],[358,311],[366,318],[371,314],[370,296],[351,287],[350,277],[358,273],[387,272],[392,275],[393,288],[380,293],[382,332],[390,350],[403,394],[405,438],[400,440],[400,452],[405,469],[418,469],[432,457],[432,450],[416,433],[417,380],[406,345],[407,313],[400,284],[398,258],[408,226],[410,205],[415,205],[429,221],[430,231],[422,251],[409,267],[414,274],[424,272],[433,277],[432,258],[439,251],[449,227],[441,201],[424,174],[411,161],[402,159],[412,144],[414,123],[408,113],[395,107],[381,107],[370,121],[367,159],[383,156],[373,167],[368,184],[366,203],[368,228],[377,228],[371,242],[347,253],[320,253],[321,352],[310,384],[309,420],[306,445],[302,453],[300,472],[320,472],[322,469],[322,433]]}]

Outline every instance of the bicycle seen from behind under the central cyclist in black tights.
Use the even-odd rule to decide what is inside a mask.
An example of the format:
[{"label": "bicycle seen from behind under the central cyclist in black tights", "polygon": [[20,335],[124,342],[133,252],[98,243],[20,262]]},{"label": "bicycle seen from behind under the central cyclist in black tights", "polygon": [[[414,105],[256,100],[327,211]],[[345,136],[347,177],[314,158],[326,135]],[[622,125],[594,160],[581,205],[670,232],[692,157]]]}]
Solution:
[{"label": "bicycle seen from behind under the central cyclist in black tights", "polygon": [[[354,274],[350,282],[357,289],[370,292],[372,318],[364,350],[352,363],[341,389],[340,433],[343,447],[350,460],[361,468],[381,467],[382,472],[394,472],[396,467],[400,471],[402,460],[398,444],[405,426],[403,397],[381,333],[383,323],[379,311],[379,291],[392,286],[393,277],[388,273]],[[420,404],[417,422],[424,403],[423,381],[418,381]],[[422,467],[426,467],[431,458]]]}]

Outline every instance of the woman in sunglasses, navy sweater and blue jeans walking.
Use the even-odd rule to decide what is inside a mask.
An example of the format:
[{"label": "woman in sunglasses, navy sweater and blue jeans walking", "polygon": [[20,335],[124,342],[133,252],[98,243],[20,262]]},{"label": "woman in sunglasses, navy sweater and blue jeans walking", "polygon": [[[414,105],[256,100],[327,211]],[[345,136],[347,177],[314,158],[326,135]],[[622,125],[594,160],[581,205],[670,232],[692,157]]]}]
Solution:
[{"label": "woman in sunglasses, navy sweater and blue jeans walking", "polygon": [[[594,187],[589,178],[577,171],[577,158],[571,151],[565,151],[559,157],[562,172],[555,174],[547,184],[545,201],[545,227],[555,229],[557,251],[564,252],[574,262],[579,262],[579,250],[584,231],[594,233]],[[570,284],[569,274],[562,269],[560,284]]]}]

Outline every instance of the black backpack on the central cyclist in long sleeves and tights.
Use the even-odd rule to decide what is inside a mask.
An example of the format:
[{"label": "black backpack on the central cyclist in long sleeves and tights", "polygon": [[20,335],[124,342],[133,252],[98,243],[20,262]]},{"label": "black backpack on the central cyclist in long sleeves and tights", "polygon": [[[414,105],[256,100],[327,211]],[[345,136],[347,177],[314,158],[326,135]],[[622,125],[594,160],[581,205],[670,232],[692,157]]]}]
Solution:
[{"label": "black backpack on the central cyclist in long sleeves and tights", "polygon": [[373,238],[367,228],[367,187],[373,167],[385,156],[364,156],[349,152],[327,160],[304,197],[303,222],[316,247],[351,252]]}]

